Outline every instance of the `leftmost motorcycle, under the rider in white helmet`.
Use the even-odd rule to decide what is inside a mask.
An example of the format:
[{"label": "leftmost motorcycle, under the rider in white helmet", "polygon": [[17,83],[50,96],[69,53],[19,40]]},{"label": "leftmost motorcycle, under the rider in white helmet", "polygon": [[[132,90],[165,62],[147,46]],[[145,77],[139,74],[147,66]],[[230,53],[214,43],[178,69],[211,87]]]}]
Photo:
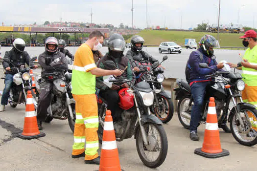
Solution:
[{"label": "leftmost motorcycle, under the rider in white helmet", "polygon": [[[37,57],[33,57],[30,59],[30,63],[35,61]],[[10,96],[8,99],[8,102],[11,107],[15,108],[18,104],[26,103],[27,99],[27,91],[31,90],[32,96],[33,96],[33,103],[35,109],[37,109],[37,89],[36,87],[32,87],[32,80],[29,73],[30,69],[33,69],[34,66],[29,66],[29,68],[25,68],[24,65],[21,64],[13,64],[9,59],[3,59],[5,62],[12,64],[13,66],[18,67],[12,67],[11,71],[14,73],[13,76],[13,83],[10,90]],[[30,65],[30,64],[29,64]],[[5,79],[5,77],[2,77],[1,79]],[[35,92],[34,92],[35,91]]]}]

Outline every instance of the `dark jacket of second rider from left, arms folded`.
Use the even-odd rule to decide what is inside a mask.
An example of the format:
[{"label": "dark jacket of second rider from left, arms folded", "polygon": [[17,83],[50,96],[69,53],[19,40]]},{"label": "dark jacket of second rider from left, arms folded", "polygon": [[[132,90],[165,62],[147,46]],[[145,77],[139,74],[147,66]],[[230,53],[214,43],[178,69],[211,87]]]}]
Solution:
[{"label": "dark jacket of second rider from left, arms folded", "polygon": [[[50,65],[46,65],[47,57],[51,58]],[[45,51],[44,53],[39,55],[38,63],[42,67],[41,75],[43,78],[45,77],[45,73],[52,73],[56,70],[64,71],[64,70],[68,69],[67,59],[64,56],[64,54],[59,51],[56,51],[53,54]]]}]

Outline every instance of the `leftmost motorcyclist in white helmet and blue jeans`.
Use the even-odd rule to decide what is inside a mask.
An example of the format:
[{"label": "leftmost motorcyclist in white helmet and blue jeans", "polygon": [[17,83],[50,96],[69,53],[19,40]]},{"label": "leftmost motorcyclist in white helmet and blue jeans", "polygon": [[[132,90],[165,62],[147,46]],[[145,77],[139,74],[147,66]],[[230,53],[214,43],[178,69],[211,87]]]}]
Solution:
[{"label": "leftmost motorcyclist in white helmet and blue jeans", "polygon": [[[10,51],[5,52],[4,59],[10,60],[12,64],[9,64],[5,61],[2,62],[3,68],[5,69],[5,86],[2,93],[0,111],[5,110],[5,105],[7,105],[8,103],[8,98],[13,83],[13,75],[17,73],[15,71],[12,71],[11,68],[24,68],[25,63],[27,65],[29,65],[30,63],[30,57],[28,53],[24,51],[24,48],[25,42],[23,41],[23,39],[18,38],[13,41],[13,48]],[[38,67],[37,65],[34,65],[34,63],[30,63],[30,66],[34,66],[34,68]]]}]

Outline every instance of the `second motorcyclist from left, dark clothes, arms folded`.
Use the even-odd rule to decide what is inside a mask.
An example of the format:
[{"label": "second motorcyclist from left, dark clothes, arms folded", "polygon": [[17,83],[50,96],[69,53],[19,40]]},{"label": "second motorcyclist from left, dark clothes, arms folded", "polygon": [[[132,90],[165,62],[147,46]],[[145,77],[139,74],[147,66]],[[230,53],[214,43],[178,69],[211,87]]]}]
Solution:
[{"label": "second motorcyclist from left, dark clothes, arms folded", "polygon": [[[45,43],[45,52],[40,54],[38,57],[38,62],[42,67],[41,71],[41,81],[40,85],[40,95],[38,99],[38,108],[37,108],[37,120],[38,128],[41,130],[42,121],[45,121],[47,116],[47,108],[49,107],[51,98],[51,89],[53,83],[46,79],[46,73],[53,73],[58,70],[61,74],[63,71],[68,68],[67,60],[63,53],[58,50],[58,41],[54,37],[48,37]],[[50,59],[50,65],[46,64],[46,61]]]}]

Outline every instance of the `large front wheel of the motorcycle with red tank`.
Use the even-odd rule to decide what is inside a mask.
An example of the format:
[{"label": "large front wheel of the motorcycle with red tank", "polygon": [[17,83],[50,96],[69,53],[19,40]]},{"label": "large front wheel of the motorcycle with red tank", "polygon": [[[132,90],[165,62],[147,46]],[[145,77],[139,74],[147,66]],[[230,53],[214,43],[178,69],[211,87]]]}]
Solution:
[{"label": "large front wheel of the motorcycle with red tank", "polygon": [[157,168],[163,164],[167,156],[168,140],[166,132],[162,125],[153,123],[146,123],[143,127],[148,145],[144,145],[141,130],[138,130],[135,136],[139,157],[147,167]]}]

